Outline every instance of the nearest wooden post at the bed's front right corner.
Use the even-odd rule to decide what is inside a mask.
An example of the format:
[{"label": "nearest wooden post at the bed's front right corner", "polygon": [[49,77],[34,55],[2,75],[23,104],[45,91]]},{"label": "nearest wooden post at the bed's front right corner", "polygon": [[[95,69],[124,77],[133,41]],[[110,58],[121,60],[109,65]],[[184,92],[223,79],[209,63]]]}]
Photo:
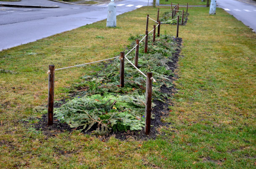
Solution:
[{"label": "nearest wooden post at the bed's front right corner", "polygon": [[146,80],[146,108],[145,108],[145,134],[150,134],[151,124],[151,103],[152,103],[152,73],[147,73]]}]

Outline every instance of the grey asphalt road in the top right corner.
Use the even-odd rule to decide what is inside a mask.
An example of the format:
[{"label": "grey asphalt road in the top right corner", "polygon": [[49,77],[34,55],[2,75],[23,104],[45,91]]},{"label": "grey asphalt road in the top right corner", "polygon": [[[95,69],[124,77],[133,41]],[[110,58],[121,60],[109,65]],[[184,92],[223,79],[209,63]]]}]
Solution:
[{"label": "grey asphalt road in the top right corner", "polygon": [[[218,7],[256,31],[256,6],[238,0],[217,0]],[[218,15],[218,13],[217,13]]]}]

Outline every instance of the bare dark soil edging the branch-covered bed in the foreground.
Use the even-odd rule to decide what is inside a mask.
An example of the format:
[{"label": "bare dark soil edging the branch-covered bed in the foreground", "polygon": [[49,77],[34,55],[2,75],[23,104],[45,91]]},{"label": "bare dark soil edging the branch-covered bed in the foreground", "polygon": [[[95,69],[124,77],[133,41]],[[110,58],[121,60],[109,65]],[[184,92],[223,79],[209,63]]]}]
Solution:
[{"label": "bare dark soil edging the branch-covered bed in the foreground", "polygon": [[[182,45],[182,38],[176,38],[176,41],[178,43],[179,49],[177,50],[176,53],[174,53],[172,60],[169,61],[168,66],[171,68],[174,77],[173,76],[169,76],[169,78],[174,81],[175,79],[177,79],[177,75],[174,73],[174,71],[177,69],[178,65],[177,62],[179,60],[179,53],[181,51],[181,45]],[[161,92],[162,93],[167,93],[168,96],[172,96],[175,92],[176,89],[172,86],[170,88],[167,88],[165,85],[161,86]],[[77,93],[72,93],[71,96],[75,96]],[[64,99],[63,99],[63,102]],[[105,140],[108,139],[110,136],[115,136],[117,139],[120,140],[126,140],[126,139],[136,139],[136,140],[147,140],[147,139],[155,139],[156,136],[159,134],[158,129],[161,126],[168,126],[169,123],[163,123],[162,121],[164,121],[164,118],[166,116],[169,115],[169,108],[168,106],[172,105],[172,102],[170,102],[167,98],[166,98],[166,103],[158,101],[158,100],[154,100],[154,103],[156,104],[156,106],[154,106],[152,108],[152,115],[154,116],[154,119],[151,119],[151,125],[153,127],[151,127],[151,132],[150,132],[150,136],[146,136],[145,135],[145,131],[144,129],[141,131],[117,131],[117,132],[110,132],[107,136],[100,136],[100,139]],[[62,103],[63,104],[63,103]],[[59,104],[55,104],[54,107],[59,107]],[[47,114],[44,114],[42,116],[42,118],[38,119],[38,123],[36,124],[32,124],[32,127],[35,128],[38,131],[42,131],[45,135],[47,136],[55,136],[55,134],[58,134],[60,132],[64,132],[64,131],[69,131],[72,132],[74,130],[78,130],[81,128],[70,128],[70,126],[68,124],[65,123],[61,123],[58,119],[54,119],[54,124],[52,126],[47,126]],[[25,125],[28,125],[26,122],[23,122]],[[95,126],[96,128],[97,126]],[[91,131],[93,130],[94,127],[92,127],[92,129],[90,129],[87,132],[83,132],[84,134],[91,134]]]}]

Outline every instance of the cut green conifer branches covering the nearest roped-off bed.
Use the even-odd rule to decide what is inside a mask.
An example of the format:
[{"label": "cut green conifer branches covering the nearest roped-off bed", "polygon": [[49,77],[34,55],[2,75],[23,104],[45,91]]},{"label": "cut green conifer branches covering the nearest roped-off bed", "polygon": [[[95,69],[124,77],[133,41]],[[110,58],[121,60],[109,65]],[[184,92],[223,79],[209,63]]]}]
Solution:
[{"label": "cut green conifer branches covering the nearest roped-off bed", "polygon": [[[131,36],[134,43],[144,35]],[[149,36],[149,42],[152,42]],[[170,35],[160,35],[155,43],[148,44],[148,53],[143,53],[144,43],[140,44],[138,67],[146,73],[152,72],[156,83],[153,83],[153,100],[164,102],[168,97],[161,93],[161,86],[172,86],[172,75],[167,63],[176,52],[177,43]],[[127,49],[125,53],[130,50]],[[134,51],[127,56],[133,62]],[[97,67],[97,68],[96,68]],[[95,65],[98,72],[82,77],[82,83],[76,84],[80,97],[74,98],[55,109],[55,117],[62,122],[93,134],[104,135],[113,131],[141,130],[145,124],[145,86],[146,81],[131,64],[125,61],[125,87],[119,86],[119,58],[110,63]],[[153,105],[155,106],[155,105]],[[154,115],[153,115],[154,117]]]}]

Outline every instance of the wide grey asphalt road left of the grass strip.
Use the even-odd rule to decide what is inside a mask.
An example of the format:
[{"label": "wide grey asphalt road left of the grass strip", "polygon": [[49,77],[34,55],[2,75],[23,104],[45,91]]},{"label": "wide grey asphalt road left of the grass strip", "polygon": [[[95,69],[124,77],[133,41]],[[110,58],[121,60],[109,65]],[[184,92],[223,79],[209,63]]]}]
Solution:
[{"label": "wide grey asphalt road left of the grass strip", "polygon": [[[152,1],[149,0],[150,4]],[[60,8],[0,7],[0,50],[104,20],[108,11],[108,4],[82,6],[49,0],[22,0],[11,4],[58,5]],[[148,5],[148,0],[123,0],[115,4],[120,15]]]}]

